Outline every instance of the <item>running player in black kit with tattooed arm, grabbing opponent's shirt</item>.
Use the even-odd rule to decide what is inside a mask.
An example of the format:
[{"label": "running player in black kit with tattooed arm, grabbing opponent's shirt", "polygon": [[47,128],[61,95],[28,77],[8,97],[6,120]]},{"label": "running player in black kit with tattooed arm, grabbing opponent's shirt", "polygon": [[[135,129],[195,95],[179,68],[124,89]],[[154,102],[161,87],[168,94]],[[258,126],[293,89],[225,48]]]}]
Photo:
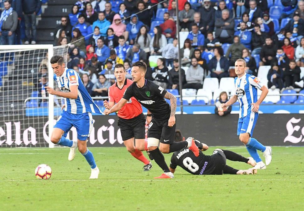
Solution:
[{"label": "running player in black kit with tattooed arm, grabbing opponent's shirt", "polygon": [[[134,83],[126,89],[123,98],[110,110],[106,109],[104,114],[108,115],[119,111],[131,97],[135,97],[142,106],[148,109],[147,122],[150,122],[148,128],[149,153],[164,171],[164,174],[155,178],[174,178],[161,152],[171,153],[189,148],[198,156],[199,150],[192,140],[174,142],[176,97],[161,86],[146,80],[144,78],[146,71],[147,66],[144,62],[133,63],[131,76]],[[164,98],[170,99],[171,107]]]}]

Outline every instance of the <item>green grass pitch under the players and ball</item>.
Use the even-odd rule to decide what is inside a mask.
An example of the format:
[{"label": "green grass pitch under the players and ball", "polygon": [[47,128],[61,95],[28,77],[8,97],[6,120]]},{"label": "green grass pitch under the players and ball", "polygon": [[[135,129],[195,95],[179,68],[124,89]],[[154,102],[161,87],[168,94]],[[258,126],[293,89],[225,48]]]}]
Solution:
[{"label": "green grass pitch under the players and ball", "polygon": [[[223,149],[249,156],[245,147]],[[154,161],[143,172],[123,147],[90,150],[100,169],[97,180],[88,179],[79,152],[67,160],[68,148],[0,149],[0,210],[303,210],[303,147],[273,147],[271,164],[257,175],[194,176],[177,167],[175,178],[166,180],[153,179],[162,173]],[[50,180],[36,179],[39,164],[50,165]]]}]

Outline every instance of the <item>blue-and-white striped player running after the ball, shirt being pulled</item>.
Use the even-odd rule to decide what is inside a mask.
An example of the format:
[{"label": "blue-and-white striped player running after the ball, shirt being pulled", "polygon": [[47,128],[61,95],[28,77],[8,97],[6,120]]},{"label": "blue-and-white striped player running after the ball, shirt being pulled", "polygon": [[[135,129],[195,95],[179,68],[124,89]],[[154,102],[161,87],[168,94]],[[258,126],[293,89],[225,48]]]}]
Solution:
[{"label": "blue-and-white striped player running after the ball, shirt being pulled", "polygon": [[[70,147],[68,160],[75,158],[75,150],[78,150],[86,158],[91,166],[90,179],[97,179],[99,169],[96,166],[92,152],[86,147],[86,139],[90,136],[93,128],[92,113],[102,113],[94,103],[91,96],[83,85],[78,73],[73,69],[65,69],[64,59],[60,55],[54,55],[50,60],[54,70],[54,80],[60,91],[46,86],[49,94],[64,97],[64,111],[58,118],[51,135],[51,142]],[[77,142],[66,138],[71,127],[76,127]]]}]

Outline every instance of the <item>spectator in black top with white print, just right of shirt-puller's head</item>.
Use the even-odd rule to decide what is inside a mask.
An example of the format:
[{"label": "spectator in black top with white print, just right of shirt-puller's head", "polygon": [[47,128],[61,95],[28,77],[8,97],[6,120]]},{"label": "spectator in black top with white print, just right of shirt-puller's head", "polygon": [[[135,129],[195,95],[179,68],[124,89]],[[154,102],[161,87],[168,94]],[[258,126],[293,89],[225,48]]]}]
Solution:
[{"label": "spectator in black top with white print, just right of shirt-puller's head", "polygon": [[165,59],[158,58],[157,59],[157,67],[154,68],[154,72],[152,73],[153,82],[156,85],[161,86],[164,89],[167,89],[168,84],[168,68],[165,66]]}]

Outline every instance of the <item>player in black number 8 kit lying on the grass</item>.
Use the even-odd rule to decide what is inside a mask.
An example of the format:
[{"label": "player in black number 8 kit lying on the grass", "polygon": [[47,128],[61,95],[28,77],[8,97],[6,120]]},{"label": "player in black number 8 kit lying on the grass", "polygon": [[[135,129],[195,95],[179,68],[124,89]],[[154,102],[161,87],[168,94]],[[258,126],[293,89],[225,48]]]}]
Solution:
[{"label": "player in black number 8 kit lying on the grass", "polygon": [[[175,133],[175,141],[179,142],[183,139],[185,138],[182,137],[181,132],[177,130]],[[189,137],[189,139],[193,138]],[[196,144],[200,148],[200,144],[202,143],[199,143],[199,141],[196,140]],[[204,145],[205,144],[202,144],[201,149],[203,149]],[[226,159],[248,163],[251,166],[255,165],[253,158],[245,158],[242,155],[229,150],[215,149],[211,156],[205,155],[202,152],[199,153],[199,156],[195,156],[190,149],[184,148],[180,151],[176,151],[172,155],[170,161],[170,171],[174,173],[176,167],[181,166],[181,168],[194,175],[256,174],[256,169],[234,169],[226,165]]]}]

